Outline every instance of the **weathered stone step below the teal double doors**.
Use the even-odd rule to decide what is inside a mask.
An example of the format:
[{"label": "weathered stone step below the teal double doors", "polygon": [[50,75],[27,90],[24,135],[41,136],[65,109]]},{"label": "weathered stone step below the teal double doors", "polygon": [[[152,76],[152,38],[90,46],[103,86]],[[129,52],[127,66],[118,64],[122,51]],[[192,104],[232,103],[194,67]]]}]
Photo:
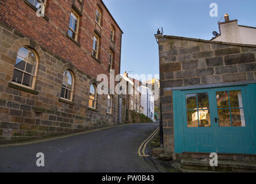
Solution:
[{"label": "weathered stone step below the teal double doors", "polygon": [[218,159],[218,166],[211,167],[209,159],[183,158],[181,168],[190,170],[208,170],[220,172],[256,172],[256,162],[244,162]]}]

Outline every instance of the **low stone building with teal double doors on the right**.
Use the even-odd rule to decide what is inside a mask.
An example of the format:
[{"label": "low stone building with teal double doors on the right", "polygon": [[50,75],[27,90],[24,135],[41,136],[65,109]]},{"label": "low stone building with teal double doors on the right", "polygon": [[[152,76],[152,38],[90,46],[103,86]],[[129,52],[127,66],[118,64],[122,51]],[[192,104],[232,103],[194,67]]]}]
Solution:
[{"label": "low stone building with teal double doors on the right", "polygon": [[255,161],[256,45],[155,37],[165,151]]}]

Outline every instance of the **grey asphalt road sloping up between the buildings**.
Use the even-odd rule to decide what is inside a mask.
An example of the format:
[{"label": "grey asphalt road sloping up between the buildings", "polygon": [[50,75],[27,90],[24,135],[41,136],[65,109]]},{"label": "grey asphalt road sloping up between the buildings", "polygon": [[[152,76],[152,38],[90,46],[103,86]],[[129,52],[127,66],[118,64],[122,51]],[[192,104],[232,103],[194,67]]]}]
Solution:
[{"label": "grey asphalt road sloping up between the buildings", "polygon": [[[0,147],[0,172],[158,172],[138,148],[157,123],[132,124],[28,145]],[[36,154],[44,154],[44,167]]]}]

